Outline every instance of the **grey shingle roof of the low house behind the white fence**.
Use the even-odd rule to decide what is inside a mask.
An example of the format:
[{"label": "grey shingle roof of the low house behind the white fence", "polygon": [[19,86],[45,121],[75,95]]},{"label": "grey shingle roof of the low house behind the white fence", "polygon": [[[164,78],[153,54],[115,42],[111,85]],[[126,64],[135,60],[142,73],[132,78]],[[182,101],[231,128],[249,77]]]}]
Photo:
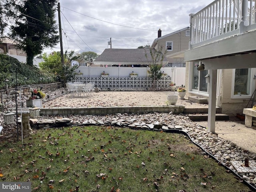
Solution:
[{"label": "grey shingle roof of the low house behind the white fence", "polygon": [[[94,60],[94,64],[103,64],[103,62],[148,64],[149,61],[152,61],[150,48],[105,49],[102,54]],[[164,58],[164,62],[165,61],[166,58]]]}]

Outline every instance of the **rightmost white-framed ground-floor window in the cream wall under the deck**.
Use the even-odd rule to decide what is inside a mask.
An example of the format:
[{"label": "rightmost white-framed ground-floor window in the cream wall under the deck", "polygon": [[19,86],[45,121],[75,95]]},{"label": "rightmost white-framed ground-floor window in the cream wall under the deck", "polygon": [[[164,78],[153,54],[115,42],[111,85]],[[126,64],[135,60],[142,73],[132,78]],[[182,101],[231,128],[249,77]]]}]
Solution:
[{"label": "rightmost white-framed ground-floor window in the cream wall under the deck", "polygon": [[252,69],[234,69],[232,76],[231,98],[250,98],[252,96]]}]

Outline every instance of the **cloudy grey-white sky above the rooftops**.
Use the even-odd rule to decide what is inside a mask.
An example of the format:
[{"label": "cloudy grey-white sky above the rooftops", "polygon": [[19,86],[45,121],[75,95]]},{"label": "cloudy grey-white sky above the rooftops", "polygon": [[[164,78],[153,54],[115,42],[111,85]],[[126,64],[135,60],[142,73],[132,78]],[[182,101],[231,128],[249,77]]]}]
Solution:
[{"label": "cloudy grey-white sky above the rooftops", "polygon": [[[63,49],[101,54],[110,48],[138,48],[188,27],[189,14],[214,0],[60,0]],[[56,12],[58,23],[58,12]],[[45,49],[60,51],[60,44]]]}]

